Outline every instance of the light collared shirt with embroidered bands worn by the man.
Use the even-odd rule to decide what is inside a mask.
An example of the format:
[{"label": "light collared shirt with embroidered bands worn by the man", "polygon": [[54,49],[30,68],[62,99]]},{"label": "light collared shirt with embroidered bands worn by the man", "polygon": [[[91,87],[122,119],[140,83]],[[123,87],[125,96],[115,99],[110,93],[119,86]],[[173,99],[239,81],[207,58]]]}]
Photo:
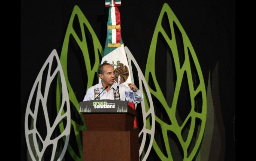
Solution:
[{"label": "light collared shirt with embroidered bands worn by the man", "polygon": [[138,104],[143,100],[143,94],[139,89],[136,92],[133,92],[129,87],[114,82],[109,91],[105,90],[104,92],[102,92],[104,88],[102,86],[102,83],[100,82],[87,90],[83,101],[94,100],[94,89],[96,88],[99,88],[99,93],[102,92],[99,96],[100,100],[114,100],[114,90],[117,90],[117,86],[119,86],[119,95],[121,101],[128,101],[134,104]]}]

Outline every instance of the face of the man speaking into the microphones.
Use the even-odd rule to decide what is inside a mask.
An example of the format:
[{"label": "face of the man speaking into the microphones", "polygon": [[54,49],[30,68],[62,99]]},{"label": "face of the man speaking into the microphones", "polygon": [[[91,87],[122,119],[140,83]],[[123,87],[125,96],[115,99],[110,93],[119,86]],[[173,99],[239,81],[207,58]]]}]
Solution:
[{"label": "face of the man speaking into the microphones", "polygon": [[111,86],[115,82],[114,67],[112,65],[103,66],[103,74],[99,74],[99,77],[102,79],[102,83],[107,86]]}]

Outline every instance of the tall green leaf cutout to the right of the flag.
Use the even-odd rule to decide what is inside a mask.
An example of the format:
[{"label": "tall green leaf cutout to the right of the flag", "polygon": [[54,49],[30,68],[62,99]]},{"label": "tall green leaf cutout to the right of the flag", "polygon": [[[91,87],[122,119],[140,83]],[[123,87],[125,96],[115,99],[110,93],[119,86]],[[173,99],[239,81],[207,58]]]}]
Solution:
[{"label": "tall green leaf cutout to the right of the flag", "polygon": [[[168,37],[166,31],[162,27],[162,19],[163,19],[163,16],[165,13],[168,16],[172,38]],[[177,27],[182,35],[182,40],[183,40],[183,45],[184,45],[183,48],[184,48],[184,54],[185,54],[184,55],[185,60],[184,60],[183,65],[180,64],[180,57],[179,57],[177,42],[176,42],[175,33],[174,33],[174,23],[177,25]],[[167,44],[169,45],[169,47],[172,51],[173,58],[174,58],[175,71],[177,73],[174,98],[173,98],[171,107],[168,106],[167,100],[165,99],[163,92],[159,86],[159,83],[156,79],[155,58],[157,56],[156,47],[157,47],[157,39],[158,39],[159,34],[162,34],[164,40],[167,42]],[[189,53],[189,51],[190,51],[190,53]],[[192,59],[190,60],[189,57],[192,57]],[[191,63],[194,64],[195,70],[196,70],[196,72],[198,74],[198,78],[199,78],[199,85],[195,90],[193,87],[193,79],[192,79],[192,72],[191,72],[191,66],[190,66]],[[171,70],[171,69],[167,69],[167,70]],[[186,72],[186,74],[185,74],[185,72]],[[168,135],[167,135],[168,131],[172,131],[177,136],[179,143],[182,147],[182,151],[183,151],[182,153],[184,154],[183,160],[192,160],[194,158],[196,152],[198,151],[198,148],[199,148],[199,145],[201,143],[202,136],[204,133],[204,128],[205,128],[205,120],[206,120],[205,85],[204,85],[202,71],[201,71],[199,62],[197,60],[195,51],[192,47],[192,44],[191,44],[187,34],[185,33],[182,25],[180,24],[179,20],[177,19],[177,17],[175,16],[175,14],[171,10],[171,8],[166,3],[163,5],[162,11],[159,15],[159,19],[157,21],[156,28],[155,28],[153,38],[151,41],[150,49],[149,49],[148,60],[147,60],[147,65],[146,65],[146,70],[145,70],[145,79],[147,80],[147,83],[149,83],[150,73],[152,74],[153,84],[155,86],[155,90],[150,88],[150,92],[162,104],[170,121],[172,122],[171,124],[167,124],[166,122],[164,122],[163,120],[161,120],[160,118],[155,116],[156,121],[161,125],[167,156],[165,156],[163,154],[163,152],[160,150],[159,146],[157,145],[156,140],[154,140],[154,142],[153,142],[153,147],[161,160],[173,160],[172,151],[170,150],[170,146],[172,146],[172,145],[169,144]],[[191,101],[191,111],[188,113],[184,122],[182,122],[182,124],[179,125],[178,120],[176,118],[177,102],[178,102],[178,98],[180,96],[181,83],[182,83],[184,76],[187,76],[187,80],[188,80],[188,87],[189,87],[189,94],[190,94],[190,100],[188,100],[188,101]],[[194,111],[195,97],[197,96],[198,93],[201,93],[201,96],[202,96],[202,111],[201,111],[201,113]],[[167,98],[167,99],[170,99],[170,98]],[[195,129],[196,120],[200,120],[200,122],[201,122],[198,129]],[[186,140],[184,140],[182,137],[182,130],[188,121],[191,121],[190,128],[189,128],[189,132],[188,132],[188,137]],[[150,124],[148,122],[147,122],[147,126],[150,126]],[[199,131],[196,134],[198,137],[195,140],[194,146],[191,147],[193,133],[195,130]],[[188,152],[188,151],[191,151],[191,152]]]}]

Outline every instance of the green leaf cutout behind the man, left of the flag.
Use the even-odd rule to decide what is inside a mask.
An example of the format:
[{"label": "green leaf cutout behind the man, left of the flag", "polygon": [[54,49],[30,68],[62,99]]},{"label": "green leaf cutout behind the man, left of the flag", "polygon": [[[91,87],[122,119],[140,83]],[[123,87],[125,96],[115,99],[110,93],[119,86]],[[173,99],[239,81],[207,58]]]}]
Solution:
[{"label": "green leaf cutout behind the man, left of the flag", "polygon": [[[75,16],[78,17],[78,22],[79,22],[80,29],[81,29],[81,37],[82,37],[81,40],[78,37],[78,33],[76,33],[74,28],[73,28],[73,23],[74,23]],[[88,29],[88,31],[89,31],[89,33],[91,34],[91,37],[92,37],[93,46],[94,46],[95,63],[90,62],[88,46],[87,46],[87,42],[86,42],[86,38],[85,38],[84,26]],[[69,23],[68,23],[68,26],[67,26],[67,30],[66,30],[66,34],[65,34],[65,38],[64,38],[64,42],[63,42],[63,46],[62,46],[60,60],[61,60],[61,64],[62,64],[62,67],[63,67],[64,76],[65,76],[65,80],[66,80],[66,84],[67,84],[67,88],[68,88],[69,100],[72,102],[72,104],[75,106],[77,112],[79,113],[79,102],[77,101],[76,96],[73,92],[73,89],[70,85],[70,82],[69,82],[70,78],[68,79],[67,56],[68,56],[68,47],[69,47],[69,38],[70,38],[70,36],[73,36],[73,38],[75,39],[76,43],[78,44],[78,46],[81,49],[82,54],[83,54],[85,67],[86,67],[86,72],[87,72],[87,78],[88,78],[87,89],[89,87],[91,87],[92,84],[93,84],[94,75],[97,74],[97,69],[100,65],[99,52],[102,56],[103,49],[102,49],[102,46],[101,46],[96,34],[93,31],[91,25],[89,24],[88,20],[85,18],[84,14],[80,10],[80,8],[78,6],[74,6],[73,12],[71,14],[71,17],[70,17],[70,20],[69,20]],[[94,63],[92,68],[91,68],[91,63]],[[75,79],[75,78],[73,78],[73,79]],[[58,83],[57,83],[57,111],[59,111],[58,107],[60,107],[61,92],[62,92],[61,91],[61,84],[59,83],[59,80],[58,80]],[[72,127],[74,129],[74,133],[75,133],[75,137],[76,137],[76,141],[77,141],[77,146],[78,146],[77,148],[78,148],[78,151],[79,151],[79,155],[81,157],[76,155],[76,153],[74,152],[74,147],[72,147],[70,145],[70,143],[68,144],[68,147],[67,147],[67,150],[68,150],[69,154],[76,161],[79,161],[79,160],[81,161],[82,160],[82,144],[81,144],[81,138],[80,138],[79,133],[82,130],[86,130],[86,125],[85,125],[83,116],[82,116],[81,113],[79,113],[79,115],[80,115],[80,119],[83,121],[83,125],[80,125],[78,122],[75,122],[74,120],[71,120],[71,124],[72,124]],[[64,130],[63,123],[60,124],[60,130],[61,130],[61,132]]]}]

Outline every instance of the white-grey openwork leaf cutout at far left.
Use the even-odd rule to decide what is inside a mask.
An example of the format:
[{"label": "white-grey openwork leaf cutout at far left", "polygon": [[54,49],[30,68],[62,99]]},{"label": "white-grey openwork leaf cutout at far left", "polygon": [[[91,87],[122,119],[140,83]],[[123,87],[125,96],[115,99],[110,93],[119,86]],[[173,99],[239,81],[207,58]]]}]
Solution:
[{"label": "white-grey openwork leaf cutout at far left", "polygon": [[[57,67],[55,69],[52,69],[53,61],[57,62]],[[51,73],[51,71],[54,71],[54,72]],[[46,76],[43,75],[44,73],[46,73]],[[53,80],[58,76],[60,77],[60,82],[62,85],[61,88],[63,91],[62,102],[61,102],[60,111],[57,113],[57,116],[56,118],[54,118],[54,122],[51,125],[49,120],[51,116],[48,116],[47,99],[48,99],[50,86],[53,83],[56,83]],[[46,77],[45,84],[42,84],[43,77]],[[43,87],[44,87],[44,90],[42,90]],[[33,98],[35,98],[35,105],[31,104]],[[39,111],[41,110],[40,108],[42,108],[43,113],[39,113]],[[40,129],[37,129],[37,126],[36,126],[37,121],[39,121],[38,120],[39,115],[41,116],[44,115],[44,118],[45,118],[44,121],[47,128],[47,134],[45,138],[41,136]],[[60,135],[56,136],[55,138],[51,138],[56,127],[58,127],[59,123],[63,122],[64,120],[66,122],[66,125],[64,127],[63,132]],[[30,122],[32,122],[31,126],[29,126]],[[32,160],[42,160],[44,152],[46,148],[48,148],[49,146],[52,146],[51,161],[62,160],[68,145],[69,134],[70,134],[70,106],[69,106],[68,92],[66,88],[66,82],[65,82],[62,66],[60,63],[60,59],[57,54],[57,51],[54,49],[50,54],[50,56],[45,61],[42,69],[40,70],[35,80],[35,83],[32,87],[32,90],[29,96],[26,114],[25,114],[25,136],[26,136],[28,151]],[[57,158],[55,158],[56,149],[58,146],[60,146],[58,145],[58,141],[60,139],[64,140],[64,147],[61,154],[57,156]],[[33,141],[30,141],[30,140],[33,140]],[[39,142],[42,143],[41,149],[39,149],[40,148],[40,146],[38,145]]]}]

